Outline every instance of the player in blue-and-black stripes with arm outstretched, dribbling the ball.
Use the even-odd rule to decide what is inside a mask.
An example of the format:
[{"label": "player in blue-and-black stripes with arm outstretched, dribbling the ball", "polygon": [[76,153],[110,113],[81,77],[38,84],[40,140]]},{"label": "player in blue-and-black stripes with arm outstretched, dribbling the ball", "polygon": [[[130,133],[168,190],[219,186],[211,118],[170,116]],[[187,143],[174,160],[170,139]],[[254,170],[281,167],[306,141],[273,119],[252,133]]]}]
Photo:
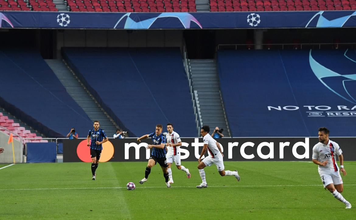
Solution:
[{"label": "player in blue-and-black stripes with arm outstretched, dribbling the ball", "polygon": [[163,176],[164,179],[166,180],[166,185],[167,187],[171,187],[171,185],[168,182],[168,171],[167,171],[167,160],[166,160],[166,137],[162,134],[163,126],[162,125],[156,125],[156,132],[152,132],[151,134],[145,134],[142,137],[137,138],[138,142],[141,142],[140,140],[143,138],[148,138],[150,137],[152,139],[153,144],[148,144],[146,149],[151,149],[152,148],[152,153],[151,157],[148,160],[148,164],[145,170],[145,178],[143,178],[140,183],[144,183],[147,181],[148,175],[151,172],[151,167],[156,165],[157,162],[159,165],[161,165],[162,171],[163,171]]}]

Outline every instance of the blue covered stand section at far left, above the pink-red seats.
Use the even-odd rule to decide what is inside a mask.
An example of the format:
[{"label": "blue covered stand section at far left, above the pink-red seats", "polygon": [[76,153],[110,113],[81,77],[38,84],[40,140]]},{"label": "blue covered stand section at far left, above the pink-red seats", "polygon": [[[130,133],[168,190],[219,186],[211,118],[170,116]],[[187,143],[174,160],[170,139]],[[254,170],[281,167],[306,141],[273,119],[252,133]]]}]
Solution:
[{"label": "blue covered stand section at far left, above the pink-red seats", "polygon": [[9,91],[0,95],[2,108],[47,137],[66,136],[70,127],[87,135],[92,122],[37,51],[2,49],[0,66],[1,89]]}]

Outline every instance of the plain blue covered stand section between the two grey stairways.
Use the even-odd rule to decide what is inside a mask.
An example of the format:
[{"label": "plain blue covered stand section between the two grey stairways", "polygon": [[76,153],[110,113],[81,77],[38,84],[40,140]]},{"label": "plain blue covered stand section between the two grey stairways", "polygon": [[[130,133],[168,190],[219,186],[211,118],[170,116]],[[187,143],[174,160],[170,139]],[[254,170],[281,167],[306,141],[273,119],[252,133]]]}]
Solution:
[{"label": "plain blue covered stand section between the two grey stairways", "polygon": [[197,133],[179,48],[63,48],[62,55],[102,108],[131,137],[173,123]]}]

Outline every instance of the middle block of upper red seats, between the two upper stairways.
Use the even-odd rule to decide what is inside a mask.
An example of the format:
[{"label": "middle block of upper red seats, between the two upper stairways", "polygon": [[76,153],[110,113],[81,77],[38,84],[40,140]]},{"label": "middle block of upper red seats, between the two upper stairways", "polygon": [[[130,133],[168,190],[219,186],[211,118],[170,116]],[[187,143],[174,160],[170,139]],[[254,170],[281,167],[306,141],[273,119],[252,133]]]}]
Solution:
[{"label": "middle block of upper red seats, between the two upper stairways", "polygon": [[66,0],[70,11],[90,12],[194,12],[194,0]]}]

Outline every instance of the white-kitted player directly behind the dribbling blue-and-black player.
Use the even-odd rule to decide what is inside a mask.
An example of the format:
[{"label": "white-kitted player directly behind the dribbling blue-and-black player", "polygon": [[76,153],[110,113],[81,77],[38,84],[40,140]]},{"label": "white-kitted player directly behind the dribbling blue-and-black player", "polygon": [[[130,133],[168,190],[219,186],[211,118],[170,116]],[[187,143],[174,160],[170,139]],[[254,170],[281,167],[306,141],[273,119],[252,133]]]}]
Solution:
[{"label": "white-kitted player directly behind the dribbling blue-and-black player", "polygon": [[187,168],[180,164],[180,148],[182,146],[182,141],[180,141],[179,134],[173,131],[173,125],[171,123],[167,124],[167,135],[166,135],[166,150],[167,150],[167,164],[168,164],[168,176],[169,183],[173,183],[171,165],[174,161],[178,170],[182,170],[187,174],[187,177],[190,178],[190,173]]}]

